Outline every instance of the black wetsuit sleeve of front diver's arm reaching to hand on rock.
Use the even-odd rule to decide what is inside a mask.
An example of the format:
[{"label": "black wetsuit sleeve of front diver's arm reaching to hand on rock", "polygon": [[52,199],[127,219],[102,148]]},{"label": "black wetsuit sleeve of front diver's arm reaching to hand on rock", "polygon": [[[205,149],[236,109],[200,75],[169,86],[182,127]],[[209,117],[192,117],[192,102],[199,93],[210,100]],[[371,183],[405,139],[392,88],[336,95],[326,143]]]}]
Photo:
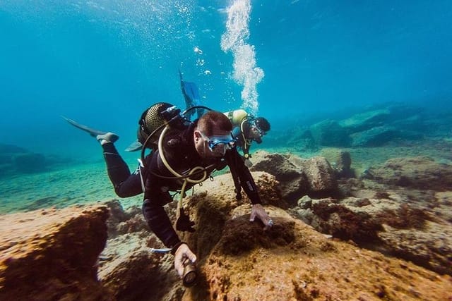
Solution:
[{"label": "black wetsuit sleeve of front diver's arm reaching to hand on rock", "polygon": [[[259,196],[254,178],[248,167],[245,166],[242,157],[237,152],[237,149],[231,149],[226,152],[225,159],[227,165],[230,167],[232,177],[237,177],[243,190],[248,195],[252,204],[261,204],[261,197]],[[234,180],[236,182],[236,180]]]}]

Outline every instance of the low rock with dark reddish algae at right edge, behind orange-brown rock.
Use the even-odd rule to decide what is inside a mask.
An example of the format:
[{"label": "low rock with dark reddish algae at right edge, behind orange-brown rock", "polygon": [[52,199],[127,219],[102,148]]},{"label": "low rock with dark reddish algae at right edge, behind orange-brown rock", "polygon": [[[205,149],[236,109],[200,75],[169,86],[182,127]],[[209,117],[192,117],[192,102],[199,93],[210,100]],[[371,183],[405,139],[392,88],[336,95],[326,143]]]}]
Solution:
[{"label": "low rock with dark reddish algae at right edge, behind orange-brown rock", "polygon": [[[353,188],[345,188],[350,182]],[[292,214],[321,233],[452,275],[452,192],[395,189],[357,179],[340,188],[349,196],[305,196]]]}]

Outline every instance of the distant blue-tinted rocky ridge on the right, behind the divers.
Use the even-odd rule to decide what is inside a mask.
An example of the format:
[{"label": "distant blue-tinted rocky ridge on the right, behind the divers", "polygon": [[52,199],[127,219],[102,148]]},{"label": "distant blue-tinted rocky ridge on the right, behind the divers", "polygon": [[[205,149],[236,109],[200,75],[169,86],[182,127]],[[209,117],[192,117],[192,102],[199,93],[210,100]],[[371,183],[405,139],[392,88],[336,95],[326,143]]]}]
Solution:
[{"label": "distant blue-tinted rocky ridge on the right, behind the divers", "polygon": [[450,135],[450,113],[427,113],[411,104],[368,107],[349,118],[306,125],[298,121],[285,131],[266,137],[269,145],[286,145],[295,152],[313,152],[320,147],[381,147],[394,142],[416,142],[425,137]]}]

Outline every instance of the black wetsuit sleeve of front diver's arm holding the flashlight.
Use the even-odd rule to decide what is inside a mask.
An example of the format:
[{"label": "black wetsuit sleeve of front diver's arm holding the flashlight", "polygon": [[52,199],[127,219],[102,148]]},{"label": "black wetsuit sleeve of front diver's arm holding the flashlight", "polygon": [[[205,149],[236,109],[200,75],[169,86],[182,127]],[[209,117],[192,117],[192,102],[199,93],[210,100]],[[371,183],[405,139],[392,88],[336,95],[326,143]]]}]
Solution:
[{"label": "black wetsuit sleeve of front diver's arm holding the flashlight", "polygon": [[172,227],[171,221],[163,206],[172,201],[169,192],[162,191],[162,180],[153,173],[158,171],[158,151],[153,155],[153,159],[147,166],[148,176],[145,182],[145,197],[143,202],[143,215],[148,222],[148,226],[153,233],[162,240],[166,247],[174,247],[180,242],[176,231]]}]

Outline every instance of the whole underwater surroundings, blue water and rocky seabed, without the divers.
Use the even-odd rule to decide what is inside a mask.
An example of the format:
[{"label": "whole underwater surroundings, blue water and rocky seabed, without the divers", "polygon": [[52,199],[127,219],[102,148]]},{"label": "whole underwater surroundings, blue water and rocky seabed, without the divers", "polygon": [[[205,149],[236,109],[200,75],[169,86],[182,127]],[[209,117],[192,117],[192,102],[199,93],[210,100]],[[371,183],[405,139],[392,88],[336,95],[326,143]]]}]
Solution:
[{"label": "whole underwater surroundings, blue water and rocky seabed, without the divers", "polygon": [[[0,300],[452,300],[451,20],[448,0],[0,0]],[[141,113],[185,109],[179,73],[271,124],[246,161],[266,231],[228,168],[165,199],[194,223],[191,288],[64,120],[117,133],[133,171]]]}]

